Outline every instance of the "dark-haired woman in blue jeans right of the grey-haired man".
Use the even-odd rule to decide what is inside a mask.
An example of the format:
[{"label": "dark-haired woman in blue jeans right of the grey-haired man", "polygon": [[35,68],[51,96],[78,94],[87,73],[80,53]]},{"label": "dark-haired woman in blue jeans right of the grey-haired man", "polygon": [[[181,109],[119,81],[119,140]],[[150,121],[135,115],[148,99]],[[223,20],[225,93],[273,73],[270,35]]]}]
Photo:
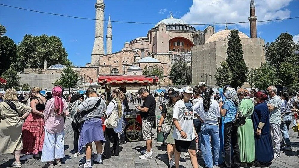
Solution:
[{"label": "dark-haired woman in blue jeans right of the grey-haired man", "polygon": [[292,151],[291,148],[291,141],[289,137],[289,128],[290,124],[292,123],[292,112],[290,109],[290,106],[292,104],[289,100],[289,93],[287,91],[281,91],[280,92],[280,98],[281,98],[281,124],[280,124],[280,131],[282,135],[282,148],[283,150]]}]

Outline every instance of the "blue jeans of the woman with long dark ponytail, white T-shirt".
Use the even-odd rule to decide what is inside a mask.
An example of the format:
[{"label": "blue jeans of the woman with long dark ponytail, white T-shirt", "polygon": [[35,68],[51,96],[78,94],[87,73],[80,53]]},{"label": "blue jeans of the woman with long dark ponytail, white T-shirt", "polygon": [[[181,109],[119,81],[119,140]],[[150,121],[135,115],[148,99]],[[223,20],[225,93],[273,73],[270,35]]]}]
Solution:
[{"label": "blue jeans of the woman with long dark ponytail, white T-shirt", "polygon": [[[212,150],[211,150],[211,140],[212,140]],[[205,161],[206,167],[213,167],[218,165],[220,149],[220,138],[219,138],[219,126],[210,125],[208,123],[202,123],[201,126],[201,149],[202,157]],[[212,155],[213,154],[213,155]]]}]

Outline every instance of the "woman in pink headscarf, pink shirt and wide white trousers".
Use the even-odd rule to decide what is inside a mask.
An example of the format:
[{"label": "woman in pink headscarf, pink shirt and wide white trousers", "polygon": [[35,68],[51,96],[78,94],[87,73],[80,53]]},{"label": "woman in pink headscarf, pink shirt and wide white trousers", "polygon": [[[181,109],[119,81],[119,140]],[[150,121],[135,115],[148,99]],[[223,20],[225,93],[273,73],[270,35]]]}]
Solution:
[{"label": "woman in pink headscarf, pink shirt and wide white trousers", "polygon": [[45,167],[53,168],[56,159],[57,166],[61,166],[60,159],[64,157],[64,120],[69,114],[68,104],[62,98],[62,89],[56,86],[52,89],[53,97],[45,107],[45,140],[42,148],[42,162],[48,162]]}]

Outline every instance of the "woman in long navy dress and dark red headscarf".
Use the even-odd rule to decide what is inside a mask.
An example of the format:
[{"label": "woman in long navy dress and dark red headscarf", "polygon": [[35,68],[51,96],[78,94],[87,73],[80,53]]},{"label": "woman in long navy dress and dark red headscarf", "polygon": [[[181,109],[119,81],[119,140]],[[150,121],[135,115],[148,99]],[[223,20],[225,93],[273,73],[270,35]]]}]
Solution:
[{"label": "woman in long navy dress and dark red headscarf", "polygon": [[270,132],[270,113],[265,100],[267,95],[261,91],[254,94],[257,102],[252,114],[253,130],[254,130],[254,146],[256,167],[268,167],[273,160],[273,147]]}]

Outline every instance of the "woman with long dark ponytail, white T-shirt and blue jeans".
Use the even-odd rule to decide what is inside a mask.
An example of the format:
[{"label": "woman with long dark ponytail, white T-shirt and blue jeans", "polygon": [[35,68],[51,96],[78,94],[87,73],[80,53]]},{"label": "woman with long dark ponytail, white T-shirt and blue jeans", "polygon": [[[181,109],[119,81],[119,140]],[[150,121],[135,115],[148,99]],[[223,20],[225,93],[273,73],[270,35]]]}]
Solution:
[{"label": "woman with long dark ponytail, white T-shirt and blue jeans", "polygon": [[193,106],[193,112],[199,114],[199,117],[203,120],[200,132],[202,157],[205,161],[205,167],[213,167],[222,163],[222,158],[220,158],[222,154],[219,152],[220,138],[218,126],[218,118],[221,117],[220,107],[218,102],[211,98],[212,96],[212,88],[206,88],[204,99]]}]

